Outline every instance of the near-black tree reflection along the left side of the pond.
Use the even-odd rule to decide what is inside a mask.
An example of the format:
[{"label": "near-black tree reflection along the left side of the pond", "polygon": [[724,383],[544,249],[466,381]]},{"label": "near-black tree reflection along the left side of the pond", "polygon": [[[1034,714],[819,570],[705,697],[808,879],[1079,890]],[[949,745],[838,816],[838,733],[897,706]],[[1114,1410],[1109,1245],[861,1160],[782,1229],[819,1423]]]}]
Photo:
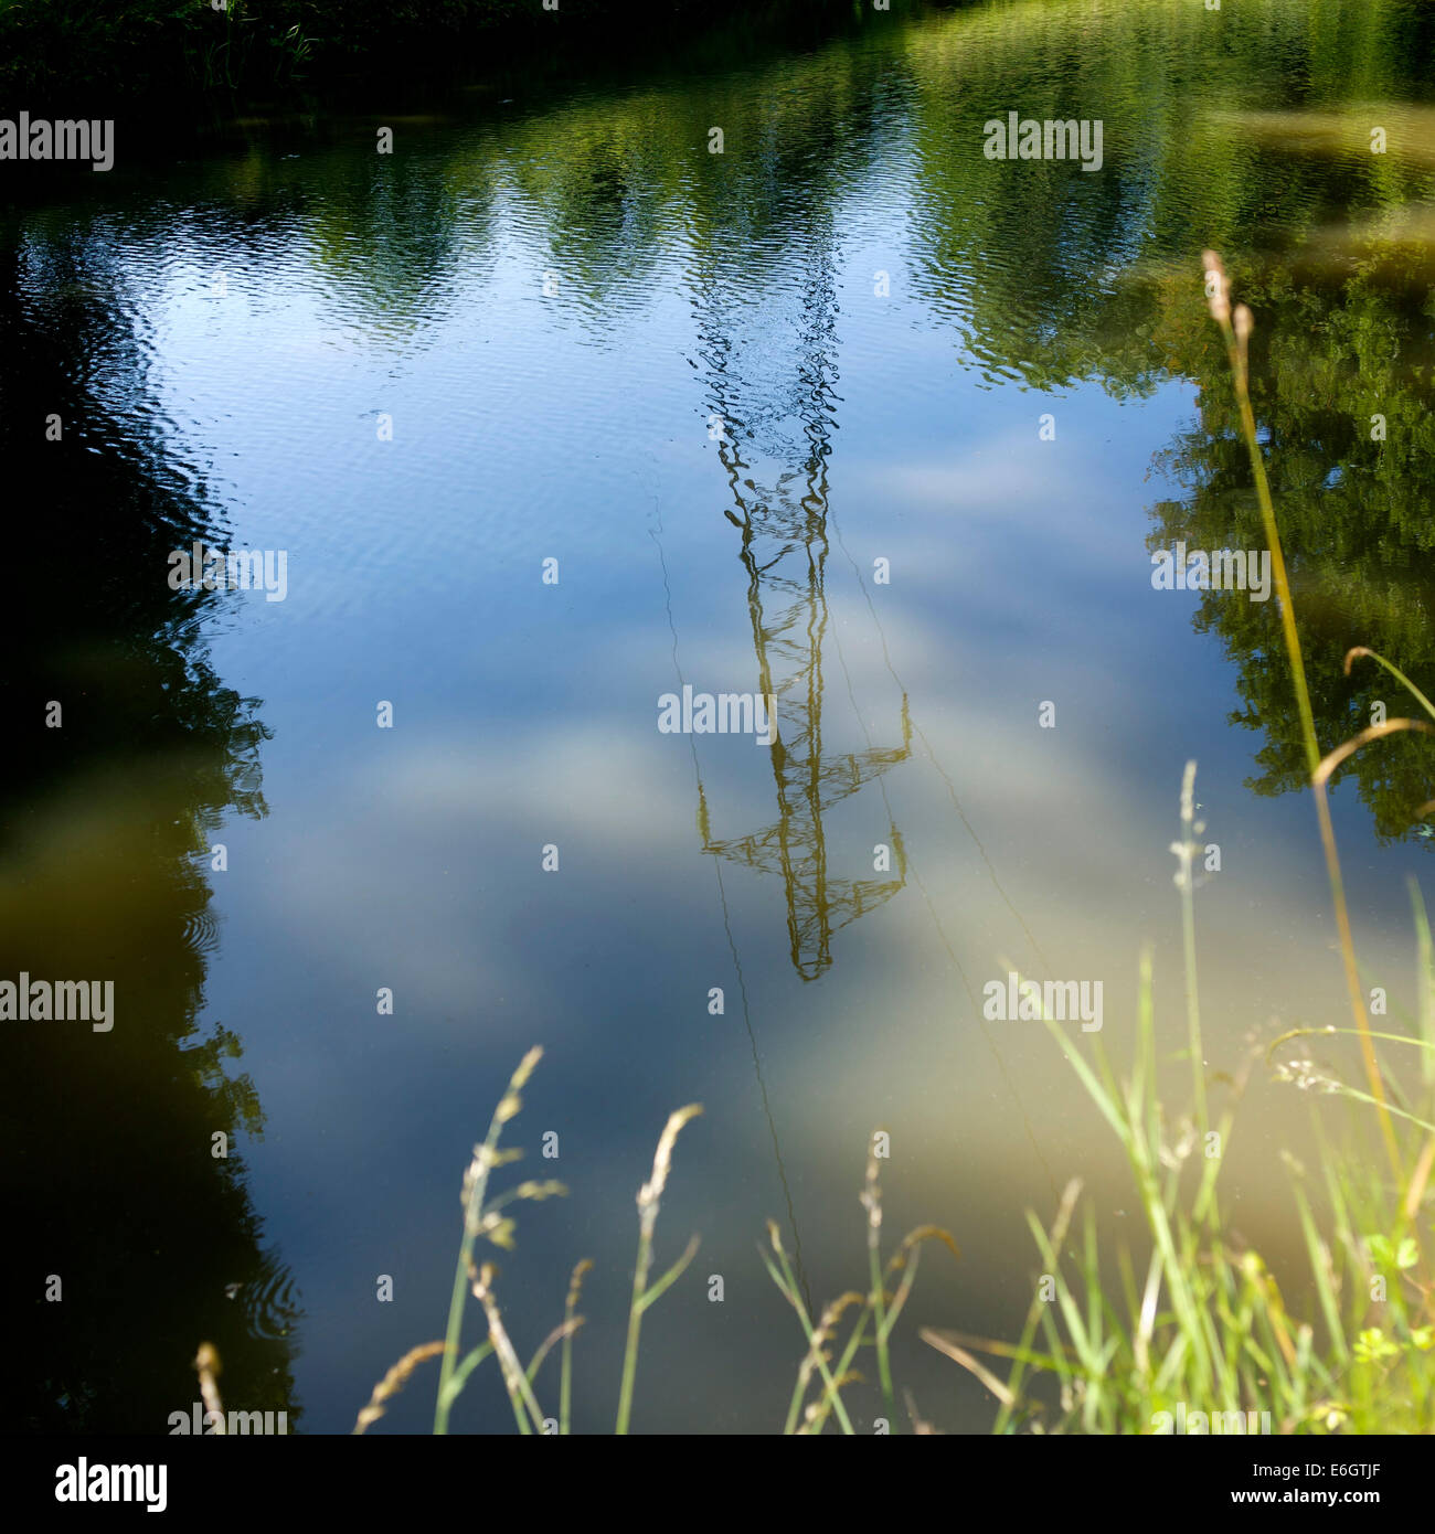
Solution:
[{"label": "near-black tree reflection along the left side of the pond", "polygon": [[[18,1321],[5,1422],[166,1433],[196,1399],[190,1361],[209,1339],[233,1407],[295,1425],[296,1296],[236,1143],[262,1134],[262,1112],[235,1072],[236,1032],[196,1022],[216,945],[207,853],[226,816],[264,815],[267,730],[196,637],[212,597],[164,578],[166,552],[213,529],[193,472],[129,430],[158,419],[143,347],[103,298],[103,255],[32,238],[0,264],[0,451],[20,483],[45,488],[8,532],[31,578],[6,600],[0,976],[114,982],[109,1032],[3,1025]],[[216,1134],[227,1158],[212,1154]]]}]

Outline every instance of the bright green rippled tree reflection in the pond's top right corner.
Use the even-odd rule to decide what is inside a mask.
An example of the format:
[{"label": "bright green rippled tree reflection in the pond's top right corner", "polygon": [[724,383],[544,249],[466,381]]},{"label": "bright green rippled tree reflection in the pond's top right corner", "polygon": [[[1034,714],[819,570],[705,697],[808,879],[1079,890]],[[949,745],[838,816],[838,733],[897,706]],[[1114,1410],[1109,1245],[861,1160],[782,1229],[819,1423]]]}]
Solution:
[{"label": "bright green rippled tree reflection in the pond's top right corner", "polygon": [[[1371,104],[1418,91],[1435,60],[1427,9],[1268,0],[1212,25],[1183,0],[1099,0],[1079,41],[1064,11],[1033,0],[909,34],[919,290],[993,379],[1146,393],[1180,360],[1153,345],[1133,270],[1189,270],[1206,245],[1298,239],[1432,190],[1429,164],[1410,153],[1429,138],[1429,114]],[[1271,106],[1292,81],[1309,81],[1303,104],[1337,153],[1291,152]],[[982,124],[1011,109],[1102,120],[1103,170],[985,160]],[[1390,127],[1384,156],[1369,152],[1377,121]]]}]

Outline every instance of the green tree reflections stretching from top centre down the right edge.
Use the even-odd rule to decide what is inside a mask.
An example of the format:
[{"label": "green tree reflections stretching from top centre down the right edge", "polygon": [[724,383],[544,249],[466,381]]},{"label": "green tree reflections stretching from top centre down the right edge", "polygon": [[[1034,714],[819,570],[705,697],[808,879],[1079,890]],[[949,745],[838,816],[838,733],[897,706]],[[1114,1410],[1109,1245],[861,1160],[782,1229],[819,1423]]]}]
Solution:
[{"label": "green tree reflections stretching from top centre down the right edge", "polygon": [[[781,83],[775,69],[770,81],[758,71],[585,97],[522,124],[505,172],[525,230],[542,233],[602,324],[605,305],[652,291],[678,233],[695,249],[700,313],[729,290],[732,307],[764,313],[766,258],[772,273],[790,270],[846,187],[910,153],[912,281],[965,365],[993,384],[1096,380],[1117,397],[1199,385],[1199,425],[1162,456],[1189,495],[1154,508],[1153,548],[1262,545],[1199,290],[1199,252],[1219,245],[1257,316],[1255,408],[1329,749],[1369,723],[1377,700],[1407,707],[1369,667],[1343,675],[1351,646],[1435,681],[1424,569],[1435,225],[1423,212],[1435,202],[1435,112],[1410,104],[1435,60],[1435,14],[1400,0],[1268,0],[1214,26],[1177,0],[1102,0],[1084,11],[1079,46],[1064,17],[1056,0],[984,6],[858,51],[783,60]],[[1103,173],[985,160],[984,123],[1018,104],[1025,117],[1102,118]],[[724,124],[732,152],[703,152],[709,123]],[[1372,124],[1384,153],[1371,150]],[[714,403],[740,428],[786,414],[760,400],[749,357],[775,350],[774,333],[797,354],[800,330],[781,313],[766,321],[704,345]],[[744,367],[747,387],[724,396],[723,376]],[[738,491],[735,469],[729,479]],[[1255,785],[1303,782],[1274,609],[1212,594],[1199,623],[1240,667],[1237,718],[1266,735]],[[1435,793],[1432,767],[1435,749],[1406,738],[1343,770],[1380,834],[1395,836]]]}]

